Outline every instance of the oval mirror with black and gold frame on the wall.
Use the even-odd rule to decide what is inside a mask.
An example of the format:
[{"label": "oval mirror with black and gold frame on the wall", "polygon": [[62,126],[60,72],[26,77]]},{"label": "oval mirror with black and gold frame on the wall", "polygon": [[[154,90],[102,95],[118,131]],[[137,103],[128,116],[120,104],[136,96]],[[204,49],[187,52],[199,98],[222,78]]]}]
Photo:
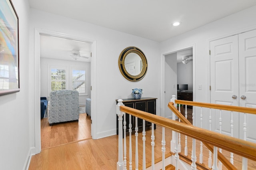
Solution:
[{"label": "oval mirror with black and gold frame on the wall", "polygon": [[146,56],[137,47],[125,48],[120,53],[118,65],[124,78],[130,81],[141,80],[148,69]]}]

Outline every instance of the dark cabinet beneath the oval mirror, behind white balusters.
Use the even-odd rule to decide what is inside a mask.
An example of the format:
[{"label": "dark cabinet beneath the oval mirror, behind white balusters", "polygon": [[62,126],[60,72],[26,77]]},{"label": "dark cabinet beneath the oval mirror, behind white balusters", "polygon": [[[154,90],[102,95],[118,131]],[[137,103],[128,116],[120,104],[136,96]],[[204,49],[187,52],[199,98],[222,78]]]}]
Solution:
[{"label": "dark cabinet beneath the oval mirror, behind white balusters", "polygon": [[[148,113],[152,113],[156,115],[156,99],[152,97],[142,97],[141,99],[122,99],[123,103],[127,107],[131,107],[134,109],[138,109],[140,111],[145,111]],[[117,102],[117,101],[116,101]],[[126,131],[129,130],[129,115],[126,115]],[[132,123],[132,130],[135,128],[135,120],[136,118],[134,116],[131,116],[131,123]],[[124,120],[123,120],[124,123]],[[145,122],[146,127],[150,127],[152,123]],[[138,118],[138,128],[139,130],[143,127],[143,121],[142,119]],[[154,129],[156,129],[156,125],[154,125]],[[116,134],[118,134],[118,116],[116,116]]]}]

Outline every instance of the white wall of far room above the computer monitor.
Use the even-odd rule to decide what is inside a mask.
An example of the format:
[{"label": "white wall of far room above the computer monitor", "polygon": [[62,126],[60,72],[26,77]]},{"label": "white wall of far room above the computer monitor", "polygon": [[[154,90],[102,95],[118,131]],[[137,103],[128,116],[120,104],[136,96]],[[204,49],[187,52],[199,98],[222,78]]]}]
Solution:
[{"label": "white wall of far room above the computer monitor", "polygon": [[177,63],[177,84],[188,84],[188,91],[193,91],[193,62]]}]

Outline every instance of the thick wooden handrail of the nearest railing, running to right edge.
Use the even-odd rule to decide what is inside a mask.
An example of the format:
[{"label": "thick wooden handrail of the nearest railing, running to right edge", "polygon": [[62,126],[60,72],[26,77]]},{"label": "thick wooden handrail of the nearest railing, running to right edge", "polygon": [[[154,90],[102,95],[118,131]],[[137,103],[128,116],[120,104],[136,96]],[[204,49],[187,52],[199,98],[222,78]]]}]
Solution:
[{"label": "thick wooden handrail of the nearest railing, running to right edge", "polygon": [[256,144],[171,119],[120,106],[120,111],[256,161]]}]

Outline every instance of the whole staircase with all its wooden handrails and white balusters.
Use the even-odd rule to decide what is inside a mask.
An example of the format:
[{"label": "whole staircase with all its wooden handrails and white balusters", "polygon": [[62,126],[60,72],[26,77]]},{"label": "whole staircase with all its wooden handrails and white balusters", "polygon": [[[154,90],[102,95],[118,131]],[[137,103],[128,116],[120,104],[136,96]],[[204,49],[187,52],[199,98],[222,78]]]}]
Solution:
[{"label": "whole staircase with all its wooden handrails and white balusters", "polygon": [[[213,132],[210,130],[206,130],[203,128],[193,126],[185,117],[176,109],[176,103],[183,105],[192,105],[199,106],[205,108],[212,109],[221,109],[221,110],[232,110],[234,112],[241,112],[248,114],[256,114],[256,109],[252,108],[242,108],[242,107],[230,107],[225,105],[216,105],[216,104],[206,104],[206,103],[198,103],[191,101],[179,101],[175,99],[171,99],[172,102],[168,104],[168,107],[173,112],[173,119],[170,120],[164,117],[160,117],[158,115],[152,115],[143,111],[139,111],[136,109],[132,109],[130,107],[126,107],[122,104],[122,100],[118,100],[118,105],[116,107],[116,113],[118,115],[118,134],[119,134],[119,142],[118,142],[118,162],[117,169],[123,170],[128,166],[129,169],[138,170],[138,165],[142,166],[142,170],[160,170],[160,169],[180,169],[180,170],[196,170],[196,169],[222,169],[227,168],[228,170],[235,169],[248,169],[248,162],[252,162],[255,164],[256,161],[256,144],[252,142],[248,142],[245,140],[241,140],[238,138],[234,138],[232,136],[226,136],[224,134],[220,134],[217,132]],[[175,103],[176,102],[176,103]],[[180,110],[180,109],[179,109]],[[194,109],[193,109],[194,110]],[[201,109],[202,110],[202,109]],[[132,135],[132,128],[129,125],[129,136],[126,138],[126,133],[124,133],[124,138],[122,139],[123,130],[126,132],[126,116],[124,116],[124,122],[122,123],[122,118],[124,114],[129,114],[134,116],[134,119],[143,119],[143,124],[145,121],[149,121],[152,123],[152,126],[155,124],[158,128],[162,127],[162,147],[156,147],[155,141],[159,140],[158,135],[154,134],[154,128],[151,130],[151,140],[148,140],[149,137],[146,137],[145,125],[143,125],[142,133],[138,134],[138,125],[135,125],[135,134]],[[179,118],[179,121],[176,121],[175,118]],[[192,113],[192,120],[194,121],[195,114]],[[202,118],[202,114],[200,115]],[[122,129],[124,127],[124,129]],[[157,129],[158,129],[157,128]],[[173,130],[171,133],[170,142],[170,150],[167,153],[170,153],[170,156],[166,158],[166,138],[169,136],[165,134],[165,129]],[[148,133],[147,133],[148,134]],[[142,137],[141,145],[138,147],[138,136]],[[156,137],[155,137],[156,136]],[[146,141],[147,138],[147,141]],[[127,142],[126,142],[127,141]],[[167,142],[167,143],[168,143]],[[129,147],[126,150],[126,143]],[[134,144],[135,143],[135,144]],[[190,143],[188,145],[188,143]],[[147,145],[146,145],[147,144]],[[152,148],[151,163],[146,164],[146,148]],[[159,152],[159,149],[155,151],[155,148],[159,148],[162,152],[162,160],[160,162],[155,161],[154,158],[155,152]],[[138,150],[140,149],[140,154]],[[184,149],[184,151],[183,151]],[[128,154],[127,154],[128,153]],[[141,154],[142,153],[142,154]],[[228,153],[228,154],[227,154]],[[241,162],[237,162],[234,160],[234,154],[240,156]],[[129,155],[127,157],[126,155]],[[208,159],[204,159],[208,155]],[[147,153],[147,156],[150,156]],[[135,160],[134,160],[135,157]],[[229,157],[229,158],[228,158]],[[135,163],[134,163],[135,162]],[[155,163],[156,162],[156,163]],[[150,165],[151,164],[151,165]],[[251,163],[250,163],[251,164]],[[159,168],[160,167],[160,168]]]}]

